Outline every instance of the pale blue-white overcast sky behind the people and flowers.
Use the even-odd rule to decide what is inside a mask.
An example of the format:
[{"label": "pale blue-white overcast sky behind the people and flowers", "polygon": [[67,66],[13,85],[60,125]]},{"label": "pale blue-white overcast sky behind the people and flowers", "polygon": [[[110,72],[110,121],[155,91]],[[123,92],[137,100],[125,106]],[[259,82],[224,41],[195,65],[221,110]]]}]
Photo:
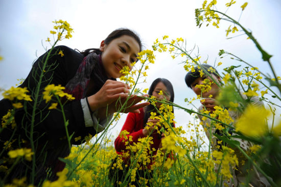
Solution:
[{"label": "pale blue-white overcast sky behind the people and flowers", "polygon": [[[219,10],[224,12],[225,3],[230,1],[217,2],[218,8],[221,8]],[[230,7],[228,14],[239,19],[240,6],[245,1],[236,2]],[[0,88],[7,90],[19,83],[17,79],[26,78],[32,63],[44,53],[44,47],[50,48],[45,40],[51,36],[52,21],[59,19],[66,20],[74,29],[73,38],[63,40],[59,45],[67,45],[80,51],[99,47],[101,41],[115,29],[129,28],[139,34],[147,49],[151,49],[156,38],[160,39],[164,35],[171,39],[182,37],[186,40],[186,48],[195,47],[203,61],[207,59],[210,65],[222,62],[223,64],[217,68],[219,72],[225,67],[239,64],[230,58],[220,59],[218,52],[224,49],[272,75],[268,64],[262,61],[260,52],[245,35],[226,38],[225,30],[230,23],[221,21],[219,29],[212,24],[207,27],[203,25],[201,28],[196,26],[195,9],[200,8],[202,3],[203,1],[199,0],[1,0],[0,56],[4,60],[0,61]],[[279,0],[252,0],[248,1],[248,6],[240,18],[240,22],[246,29],[252,31],[261,46],[273,55],[271,62],[278,75],[281,72],[279,10],[281,10]],[[147,83],[139,84],[138,87],[149,88],[157,77],[167,78],[174,87],[174,102],[188,109],[194,108],[184,102],[184,98],[192,98],[195,94],[184,83],[186,72],[181,64],[182,59],[173,60],[168,53],[156,52],[155,55],[155,64],[147,71]],[[198,106],[199,102],[195,102],[195,105]],[[183,129],[188,129],[187,124],[190,120],[193,121],[193,117],[182,110],[175,109],[175,116],[176,126],[182,125]],[[125,119],[126,114],[109,130],[109,134],[116,137]]]}]

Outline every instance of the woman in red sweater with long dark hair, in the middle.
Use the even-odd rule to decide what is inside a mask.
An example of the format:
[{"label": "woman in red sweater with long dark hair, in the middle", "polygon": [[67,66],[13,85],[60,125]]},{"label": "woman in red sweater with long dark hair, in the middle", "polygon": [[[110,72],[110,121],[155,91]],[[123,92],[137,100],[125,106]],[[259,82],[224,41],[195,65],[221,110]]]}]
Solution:
[{"label": "woman in red sweater with long dark hair, in the middle", "polygon": [[[157,78],[150,86],[148,94],[150,96],[156,97],[157,100],[168,100],[173,102],[174,101],[174,89],[170,81],[168,81],[165,78]],[[123,125],[123,128],[120,132],[120,135],[115,140],[115,149],[116,152],[120,155],[122,155],[122,158],[124,160],[123,162],[123,169],[115,169],[113,164],[111,166],[110,170],[110,178],[114,182],[114,186],[119,186],[119,181],[129,181],[129,183],[134,184],[135,186],[141,186],[142,184],[138,182],[139,177],[144,177],[146,179],[149,179],[152,177],[152,173],[148,172],[152,165],[152,156],[156,155],[157,150],[161,147],[161,139],[163,138],[163,133],[159,130],[162,128],[162,125],[157,124],[159,119],[155,119],[151,116],[153,112],[153,116],[159,115],[157,113],[157,110],[155,107],[159,110],[161,106],[161,103],[156,102],[155,106],[153,104],[150,104],[146,106],[145,108],[139,109],[140,113],[129,113],[127,116],[127,119]],[[174,112],[172,110],[172,112]],[[150,125],[148,125],[150,123]],[[147,126],[147,127],[146,127]],[[155,129],[155,127],[158,127],[158,130]],[[174,126],[174,124],[173,124]],[[145,128],[146,127],[146,128]],[[124,131],[127,131],[127,135],[124,135]],[[158,131],[158,132],[157,132]],[[160,134],[162,133],[162,134]],[[140,138],[146,138],[151,137],[150,140],[152,143],[150,144],[149,150],[145,150],[148,152],[147,156],[148,159],[143,159],[144,162],[138,163],[134,162],[133,159],[130,159],[131,157],[128,155],[134,154],[135,159],[139,156],[142,156],[138,153],[135,153],[136,151],[132,151],[128,149],[130,146],[135,146]],[[137,146],[135,146],[137,147]],[[134,152],[134,153],[133,153]],[[150,160],[150,161],[149,161]],[[116,159],[115,159],[116,161]],[[133,163],[134,162],[134,163]],[[135,177],[131,177],[134,175],[134,171],[129,170],[128,165],[135,165],[134,167],[141,167],[141,170],[135,170]],[[117,164],[116,164],[117,165]],[[116,168],[115,165],[115,168]],[[125,167],[124,167],[125,166]],[[131,167],[133,168],[133,167]],[[130,171],[130,173],[128,173]],[[128,176],[126,176],[128,173]],[[132,179],[134,178],[134,179]],[[149,181],[146,184],[150,186]],[[145,186],[145,185],[144,185]]]}]

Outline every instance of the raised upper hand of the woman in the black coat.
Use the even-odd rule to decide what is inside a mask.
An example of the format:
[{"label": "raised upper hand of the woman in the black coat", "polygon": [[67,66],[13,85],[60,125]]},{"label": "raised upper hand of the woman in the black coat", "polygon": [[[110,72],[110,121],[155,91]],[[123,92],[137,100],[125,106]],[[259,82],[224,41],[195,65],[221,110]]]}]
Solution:
[{"label": "raised upper hand of the woman in the black coat", "polygon": [[88,97],[91,111],[105,107],[118,98],[126,98],[130,87],[119,81],[107,80],[103,87],[94,95]]}]

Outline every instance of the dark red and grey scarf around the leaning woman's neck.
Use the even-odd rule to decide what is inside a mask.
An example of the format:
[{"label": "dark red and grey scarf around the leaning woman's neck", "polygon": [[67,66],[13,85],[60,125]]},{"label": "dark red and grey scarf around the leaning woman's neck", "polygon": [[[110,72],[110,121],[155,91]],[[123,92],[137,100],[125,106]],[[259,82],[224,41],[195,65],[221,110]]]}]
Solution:
[{"label": "dark red and grey scarf around the leaning woman's neck", "polygon": [[[95,94],[102,88],[107,79],[109,78],[106,76],[101,55],[91,52],[84,57],[75,76],[65,85],[65,92],[72,94],[75,100],[83,99],[86,97],[90,80],[95,83],[91,94]],[[111,79],[116,80],[115,78]]]}]

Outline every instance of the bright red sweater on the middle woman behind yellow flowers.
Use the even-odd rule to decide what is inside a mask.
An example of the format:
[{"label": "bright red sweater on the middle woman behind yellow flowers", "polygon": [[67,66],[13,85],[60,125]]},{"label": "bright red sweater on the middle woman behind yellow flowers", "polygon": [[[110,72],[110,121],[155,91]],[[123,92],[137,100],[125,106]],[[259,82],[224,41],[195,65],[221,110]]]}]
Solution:
[{"label": "bright red sweater on the middle woman behind yellow flowers", "polygon": [[[140,113],[129,113],[127,116],[127,119],[121,129],[121,131],[123,130],[127,130],[129,132],[129,134],[127,135],[127,137],[129,138],[129,136],[132,136],[132,142],[130,142],[130,144],[132,145],[134,142],[137,143],[137,140],[139,138],[144,138],[146,137],[143,134],[143,129],[144,129],[144,109],[139,109]],[[159,148],[161,139],[159,138],[159,133],[157,133],[156,131],[152,133],[152,138],[153,138],[153,144],[151,145],[151,150],[152,148],[155,148],[155,151],[153,151],[153,155],[155,155],[157,153],[157,150]],[[124,138],[118,136],[115,139],[115,149],[116,152],[118,154],[122,154],[122,151],[127,151],[126,150],[126,145],[125,145],[125,141],[123,142]]]}]

